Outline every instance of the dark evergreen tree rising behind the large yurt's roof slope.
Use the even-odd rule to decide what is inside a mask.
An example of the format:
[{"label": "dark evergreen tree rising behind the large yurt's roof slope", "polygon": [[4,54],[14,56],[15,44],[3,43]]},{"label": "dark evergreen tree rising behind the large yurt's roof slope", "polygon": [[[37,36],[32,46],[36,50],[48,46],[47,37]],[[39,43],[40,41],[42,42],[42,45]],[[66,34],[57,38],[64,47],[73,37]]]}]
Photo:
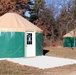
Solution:
[{"label": "dark evergreen tree rising behind the large yurt's roof slope", "polygon": [[45,0],[34,0],[34,4],[30,10],[30,21],[33,22],[39,18],[39,14],[45,7]]}]

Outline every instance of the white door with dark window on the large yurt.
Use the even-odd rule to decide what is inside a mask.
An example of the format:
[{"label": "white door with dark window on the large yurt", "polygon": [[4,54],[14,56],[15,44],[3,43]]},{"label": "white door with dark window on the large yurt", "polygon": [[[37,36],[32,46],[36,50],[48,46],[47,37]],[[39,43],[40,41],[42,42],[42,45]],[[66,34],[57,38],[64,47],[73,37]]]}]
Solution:
[{"label": "white door with dark window on the large yurt", "polygon": [[[31,37],[31,38],[28,38]],[[31,40],[31,42],[29,42]],[[25,32],[25,57],[36,56],[36,38],[35,32]]]}]

